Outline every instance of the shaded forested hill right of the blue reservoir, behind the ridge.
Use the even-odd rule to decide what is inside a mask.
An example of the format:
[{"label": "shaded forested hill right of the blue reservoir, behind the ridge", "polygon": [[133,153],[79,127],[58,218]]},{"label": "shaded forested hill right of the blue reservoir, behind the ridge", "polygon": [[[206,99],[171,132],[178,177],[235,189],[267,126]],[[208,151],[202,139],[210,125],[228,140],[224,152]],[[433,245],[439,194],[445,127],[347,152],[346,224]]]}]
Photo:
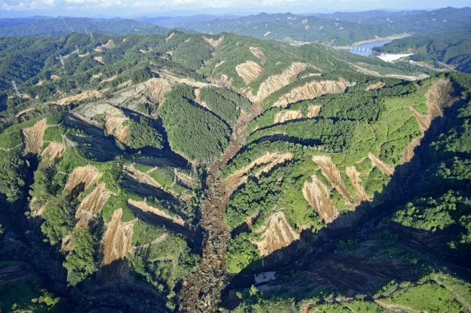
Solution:
[{"label": "shaded forested hill right of the blue reservoir, behind the ridge", "polygon": [[460,72],[471,73],[471,30],[413,35],[376,47],[377,52],[414,53],[411,60],[442,62]]}]

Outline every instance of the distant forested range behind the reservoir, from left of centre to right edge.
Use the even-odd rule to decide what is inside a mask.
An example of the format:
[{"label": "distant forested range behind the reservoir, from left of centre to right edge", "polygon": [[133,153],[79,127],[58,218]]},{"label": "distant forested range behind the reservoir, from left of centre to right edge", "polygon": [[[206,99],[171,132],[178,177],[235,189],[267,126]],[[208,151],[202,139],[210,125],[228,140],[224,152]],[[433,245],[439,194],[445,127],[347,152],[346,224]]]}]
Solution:
[{"label": "distant forested range behind the reservoir, from left of centre to right edge", "polygon": [[[334,14],[296,15],[291,13],[250,15],[204,22],[188,20],[180,26],[203,33],[236,32],[259,39],[302,42],[331,42],[337,46],[386,37],[392,34],[428,33],[469,29],[471,8],[444,8],[434,11],[367,11]],[[164,21],[157,25],[166,26]]]}]

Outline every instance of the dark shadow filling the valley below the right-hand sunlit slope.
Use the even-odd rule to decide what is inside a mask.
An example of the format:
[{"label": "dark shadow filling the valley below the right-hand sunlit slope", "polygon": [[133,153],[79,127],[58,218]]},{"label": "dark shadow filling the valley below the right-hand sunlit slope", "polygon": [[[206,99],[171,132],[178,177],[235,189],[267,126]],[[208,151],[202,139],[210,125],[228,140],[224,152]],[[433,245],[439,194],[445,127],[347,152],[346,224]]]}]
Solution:
[{"label": "dark shadow filling the valley below the right-hand sunlit slope", "polygon": [[[266,271],[276,271],[277,277],[285,276],[285,280],[293,274],[293,271],[298,271],[302,273],[303,279],[298,282],[297,288],[300,287],[299,284],[307,286],[308,282],[312,282],[314,285],[335,286],[342,295],[347,296],[375,292],[384,279],[394,279],[398,283],[417,280],[419,265],[403,261],[402,256],[390,260],[352,255],[342,258],[337,254],[337,243],[339,240],[358,239],[360,242],[365,242],[377,238],[380,230],[385,229],[384,225],[380,225],[383,219],[391,216],[398,206],[414,199],[417,191],[415,183],[430,165],[430,158],[426,155],[430,143],[452,126],[451,123],[458,114],[457,110],[464,102],[461,100],[451,108],[446,108],[446,119],[433,120],[430,129],[424,134],[421,145],[415,148],[412,160],[395,168],[391,181],[381,193],[375,194],[374,201],[364,202],[355,211],[340,215],[329,223],[328,227],[322,228],[316,234],[304,230],[299,240],[265,256],[262,259],[262,268],[260,262],[257,262],[235,275],[224,292],[223,299],[229,301],[226,302],[228,308],[235,304],[233,289],[250,287],[255,284],[254,274]],[[386,201],[378,203],[379,199]],[[248,228],[241,227],[241,230]],[[446,268],[471,281],[471,251],[452,251],[448,247],[447,238],[450,232],[453,232],[451,228],[436,232],[418,231],[390,221],[388,230],[392,235],[397,235],[397,244],[411,248],[422,256],[433,257],[435,266]],[[391,247],[386,243],[384,249],[389,248]],[[281,285],[288,284],[283,280],[275,282]],[[271,287],[261,286],[259,289],[263,288]],[[285,291],[281,293],[285,296],[281,297],[289,298],[289,288]]]}]

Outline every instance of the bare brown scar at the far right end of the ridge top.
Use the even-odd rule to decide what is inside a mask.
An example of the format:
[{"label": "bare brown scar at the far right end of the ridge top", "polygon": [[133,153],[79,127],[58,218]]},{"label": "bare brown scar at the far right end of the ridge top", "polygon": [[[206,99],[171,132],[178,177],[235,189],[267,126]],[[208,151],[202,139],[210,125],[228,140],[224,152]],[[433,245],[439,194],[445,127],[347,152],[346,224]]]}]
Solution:
[{"label": "bare brown scar at the far right end of the ridge top", "polygon": [[433,83],[432,87],[425,94],[427,99],[428,113],[426,116],[422,115],[415,108],[411,107],[411,111],[419,123],[420,130],[428,130],[432,120],[436,117],[443,116],[443,109],[451,106],[458,97],[451,97],[450,93],[453,92],[453,85],[449,80],[440,79]]}]

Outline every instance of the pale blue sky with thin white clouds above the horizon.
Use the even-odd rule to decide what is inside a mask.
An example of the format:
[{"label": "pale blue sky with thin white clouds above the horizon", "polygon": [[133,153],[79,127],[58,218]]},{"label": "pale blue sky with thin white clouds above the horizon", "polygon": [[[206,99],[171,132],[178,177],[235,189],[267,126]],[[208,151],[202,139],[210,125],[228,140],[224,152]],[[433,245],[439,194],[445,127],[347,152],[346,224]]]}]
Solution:
[{"label": "pale blue sky with thin white clouds above the horizon", "polygon": [[47,16],[162,16],[191,14],[316,13],[370,9],[471,6],[471,0],[0,0],[0,18]]}]

